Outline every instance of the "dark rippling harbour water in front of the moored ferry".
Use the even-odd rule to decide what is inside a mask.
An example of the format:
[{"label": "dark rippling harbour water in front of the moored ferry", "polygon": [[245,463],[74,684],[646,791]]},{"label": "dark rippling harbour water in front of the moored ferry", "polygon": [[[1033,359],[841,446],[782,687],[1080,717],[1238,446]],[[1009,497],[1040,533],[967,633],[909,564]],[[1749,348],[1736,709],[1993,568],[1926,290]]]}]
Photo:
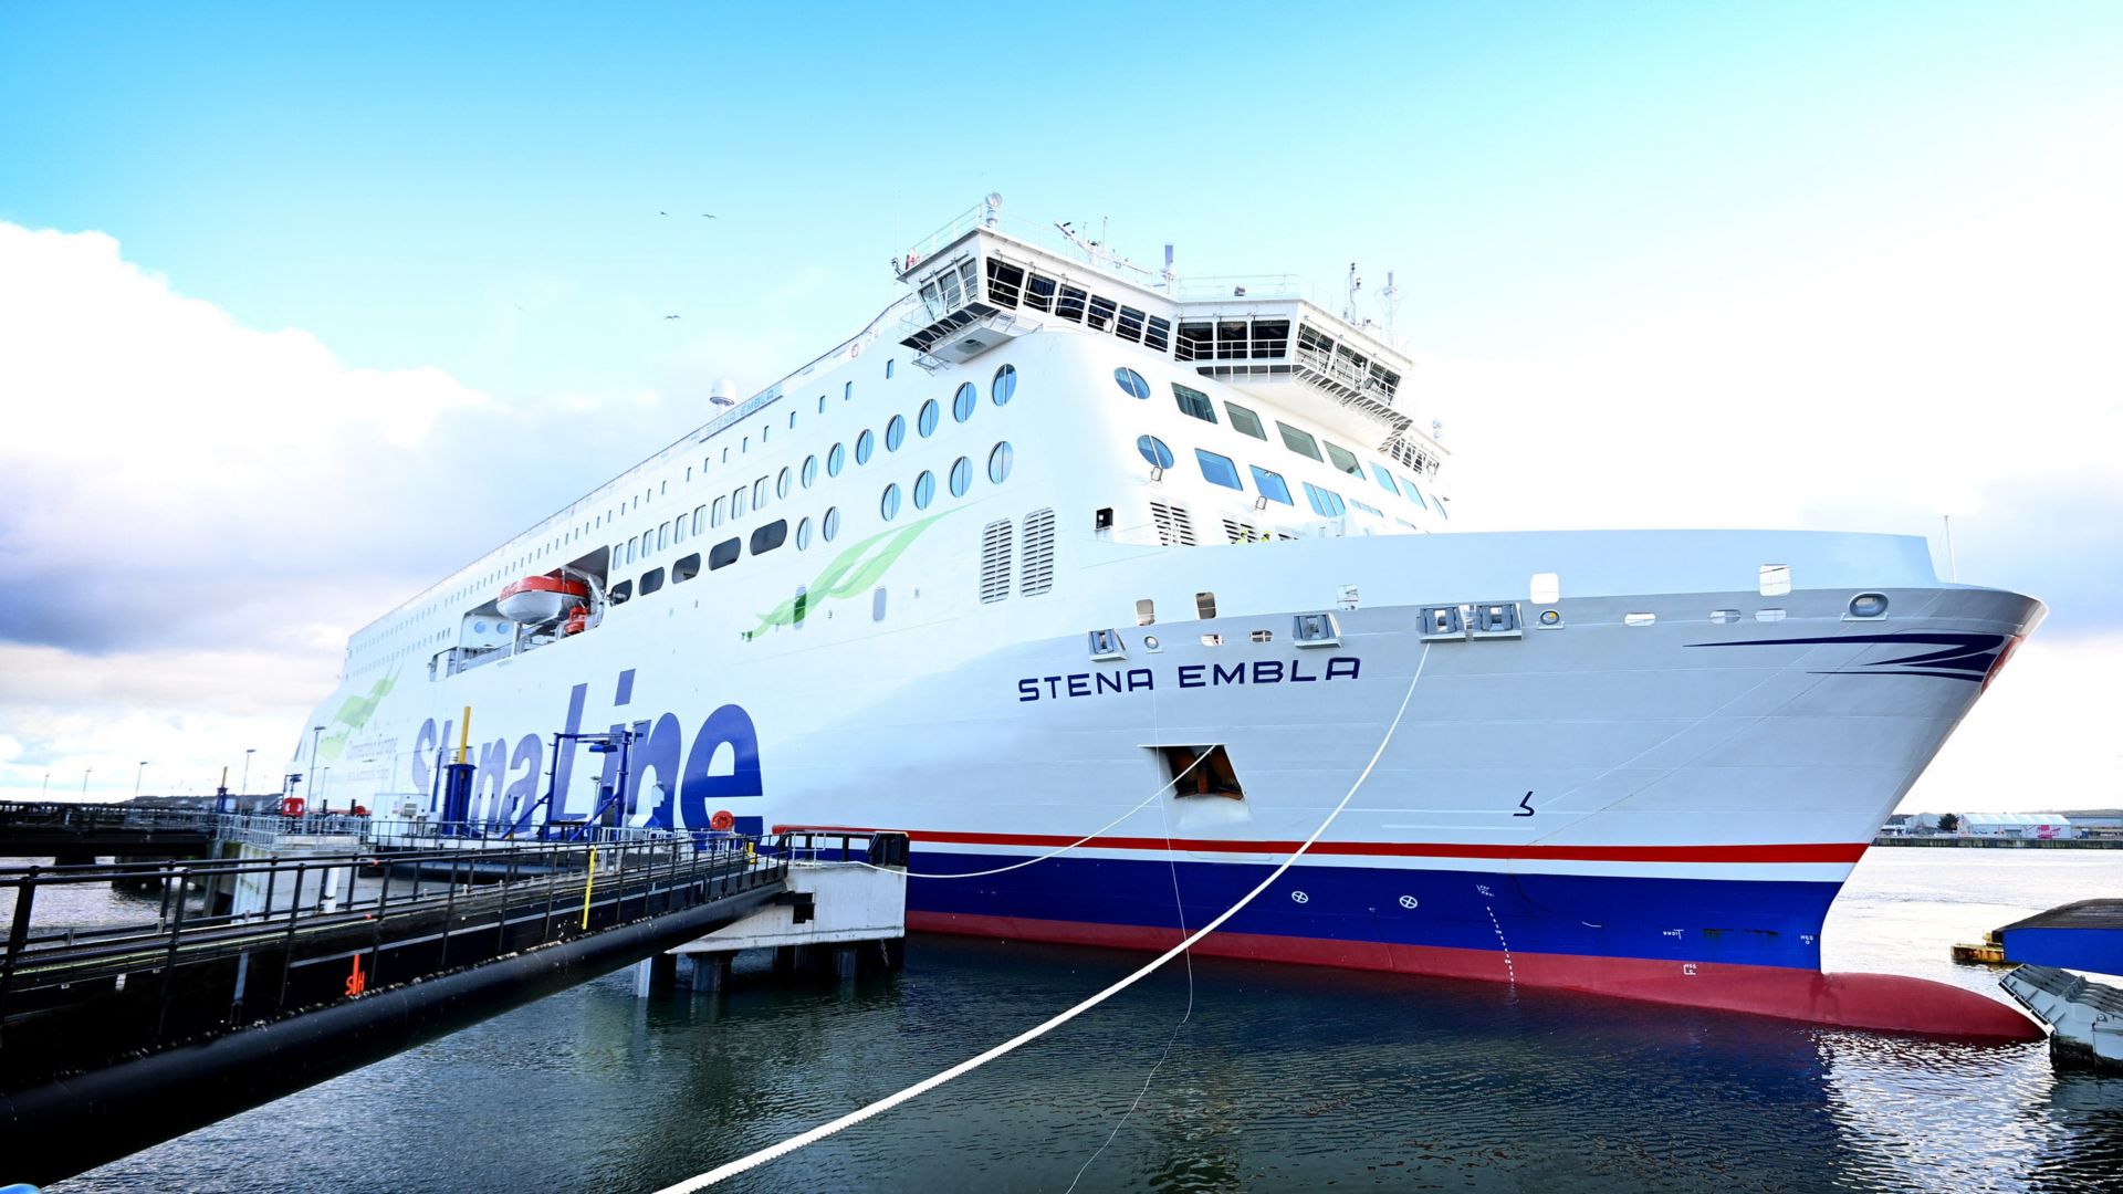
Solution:
[{"label": "dark rippling harbour water in front of the moored ferry", "polygon": [[[1947,945],[2123,894],[2123,852],[1872,850],[1830,969],[2004,999]],[[928,1077],[1136,954],[917,937],[900,975],[720,1003],[614,975],[64,1181],[652,1190]],[[2123,1079],[1960,1045],[1204,958],[724,1190],[2119,1190]]]}]

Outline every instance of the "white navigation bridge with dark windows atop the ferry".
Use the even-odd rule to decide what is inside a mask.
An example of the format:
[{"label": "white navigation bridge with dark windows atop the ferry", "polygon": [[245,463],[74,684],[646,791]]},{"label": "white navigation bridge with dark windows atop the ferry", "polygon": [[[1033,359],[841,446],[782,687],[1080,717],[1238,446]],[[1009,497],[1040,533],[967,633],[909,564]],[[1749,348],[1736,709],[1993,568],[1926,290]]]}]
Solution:
[{"label": "white navigation bridge with dark windows atop the ferry", "polygon": [[[1078,242],[1089,261],[1002,227],[987,202],[894,261],[919,304],[896,329],[915,363],[938,370],[1053,325],[1127,340],[1267,402],[1327,399],[1357,412],[1374,444],[1437,476],[1444,448],[1397,406],[1405,353],[1304,297],[1295,276],[1197,278],[1129,266]],[[1129,276],[1140,274],[1140,276]]]}]

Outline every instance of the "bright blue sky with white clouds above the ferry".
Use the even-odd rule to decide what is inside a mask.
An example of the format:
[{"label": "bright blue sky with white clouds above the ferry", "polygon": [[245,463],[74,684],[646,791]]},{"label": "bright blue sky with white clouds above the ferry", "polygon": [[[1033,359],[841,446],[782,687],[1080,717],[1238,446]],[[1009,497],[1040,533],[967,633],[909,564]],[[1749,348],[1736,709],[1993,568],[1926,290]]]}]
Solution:
[{"label": "bright blue sky with white clouds above the ferry", "polygon": [[2051,614],[1904,807],[2123,805],[2123,6],[919,21],[0,2],[0,799],[276,786],[352,629],[1000,191],[1391,270],[1461,529],[1951,514]]}]

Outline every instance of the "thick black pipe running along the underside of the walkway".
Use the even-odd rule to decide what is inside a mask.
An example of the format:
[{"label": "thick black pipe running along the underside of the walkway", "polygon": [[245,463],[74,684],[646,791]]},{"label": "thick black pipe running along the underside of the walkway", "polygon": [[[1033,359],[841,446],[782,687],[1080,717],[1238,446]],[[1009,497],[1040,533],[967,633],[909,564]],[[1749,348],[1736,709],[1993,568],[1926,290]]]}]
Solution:
[{"label": "thick black pipe running along the underside of the walkway", "polygon": [[656,956],[779,892],[781,882],[766,882],[686,911],[0,1094],[0,1166],[8,1169],[0,1181],[47,1186],[74,1177]]}]

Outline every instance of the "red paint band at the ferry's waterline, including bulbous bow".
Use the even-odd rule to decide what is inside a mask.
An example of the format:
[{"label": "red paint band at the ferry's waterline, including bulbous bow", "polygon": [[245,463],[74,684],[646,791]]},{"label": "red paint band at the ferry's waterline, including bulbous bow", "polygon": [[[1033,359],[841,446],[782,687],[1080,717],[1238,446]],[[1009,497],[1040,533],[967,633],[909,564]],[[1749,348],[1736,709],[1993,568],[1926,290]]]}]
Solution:
[{"label": "red paint band at the ferry's waterline, including bulbous bow", "polygon": [[[1019,920],[909,911],[907,926],[970,937],[1015,937],[1121,950],[1168,950],[1180,933],[1132,924],[1076,920]],[[1877,1033],[1930,1033],[2000,1041],[2040,1041],[2032,1020],[1972,990],[1904,975],[1824,975],[1785,967],[1724,962],[1660,962],[1647,958],[1592,958],[1577,954],[1505,954],[1444,945],[1388,945],[1263,933],[1214,933],[1195,945],[1202,954],[1299,962],[1352,971],[1395,971],[1478,982],[1522,982],[1645,1003],[1713,1007],[1779,1020],[1805,1020]]]}]

